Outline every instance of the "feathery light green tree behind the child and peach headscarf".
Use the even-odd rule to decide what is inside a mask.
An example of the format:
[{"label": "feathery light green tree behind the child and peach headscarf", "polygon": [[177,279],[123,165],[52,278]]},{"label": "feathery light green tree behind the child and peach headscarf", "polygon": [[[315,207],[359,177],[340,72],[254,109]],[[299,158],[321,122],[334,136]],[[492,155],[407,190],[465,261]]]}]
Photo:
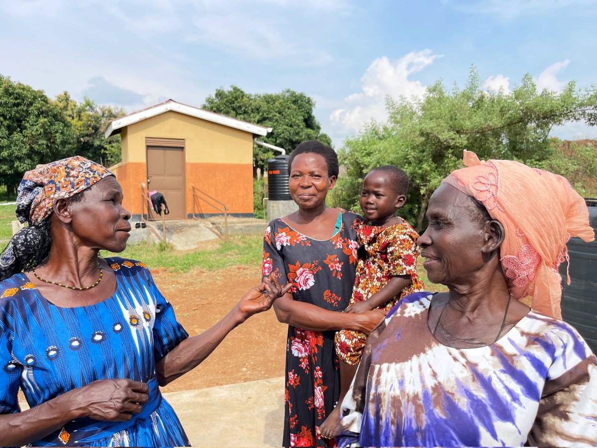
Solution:
[{"label": "feathery light green tree behind the child and peach headscarf", "polygon": [[[480,159],[515,159],[535,167],[556,166],[562,152],[550,144],[555,125],[584,120],[596,124],[597,90],[580,91],[570,82],[561,93],[537,91],[530,75],[511,93],[484,91],[472,67],[466,86],[448,91],[441,81],[420,100],[387,98],[389,119],[370,122],[340,151],[347,175],[331,197],[358,210],[364,175],[381,164],[401,167],[410,177],[401,215],[424,228],[429,197],[450,171],[462,166],[464,149]],[[582,153],[597,164],[595,151]]]}]

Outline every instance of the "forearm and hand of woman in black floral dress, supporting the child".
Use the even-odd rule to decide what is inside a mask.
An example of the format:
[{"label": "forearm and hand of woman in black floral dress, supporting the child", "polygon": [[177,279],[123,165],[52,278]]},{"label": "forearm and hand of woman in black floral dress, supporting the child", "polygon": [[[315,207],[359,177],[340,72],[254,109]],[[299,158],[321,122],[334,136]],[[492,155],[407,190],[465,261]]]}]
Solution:
[{"label": "forearm and hand of woman in black floral dress, supporting the child", "polygon": [[378,309],[362,314],[329,311],[311,303],[297,302],[291,293],[286,293],[276,300],[273,309],[280,322],[293,327],[313,332],[355,330],[367,335],[386,315]]}]

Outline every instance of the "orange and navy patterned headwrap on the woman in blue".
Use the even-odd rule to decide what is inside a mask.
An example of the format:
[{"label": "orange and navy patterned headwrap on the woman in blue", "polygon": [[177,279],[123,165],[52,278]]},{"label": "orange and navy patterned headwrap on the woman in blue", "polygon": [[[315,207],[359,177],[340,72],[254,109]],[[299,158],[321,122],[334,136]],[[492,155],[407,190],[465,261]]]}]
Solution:
[{"label": "orange and navy patterned headwrap on the woman in blue", "polygon": [[106,176],[106,168],[79,155],[27,171],[17,190],[17,218],[36,225],[53,211],[54,201],[70,198]]}]

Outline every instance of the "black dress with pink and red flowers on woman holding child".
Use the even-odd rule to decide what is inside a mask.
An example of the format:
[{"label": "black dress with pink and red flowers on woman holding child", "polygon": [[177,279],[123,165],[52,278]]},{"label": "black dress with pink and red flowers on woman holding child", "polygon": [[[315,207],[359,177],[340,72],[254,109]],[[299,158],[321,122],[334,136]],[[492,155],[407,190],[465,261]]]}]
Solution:
[{"label": "black dress with pink and red flowers on woman holding child", "polygon": [[[339,230],[330,240],[309,238],[282,219],[270,222],[263,276],[275,272],[281,284],[293,283],[294,300],[341,312],[355,283],[355,228],[362,218],[338,212]],[[335,333],[288,326],[283,446],[326,446],[315,428],[334,409],[340,393]]]}]

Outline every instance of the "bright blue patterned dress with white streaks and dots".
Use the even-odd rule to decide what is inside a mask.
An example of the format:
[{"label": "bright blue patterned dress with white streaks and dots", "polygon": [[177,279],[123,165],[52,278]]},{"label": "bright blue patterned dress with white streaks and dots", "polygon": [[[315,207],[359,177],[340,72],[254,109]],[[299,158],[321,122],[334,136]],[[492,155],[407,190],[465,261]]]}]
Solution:
[{"label": "bright blue patterned dress with white streaks and dots", "polygon": [[24,274],[0,282],[0,414],[20,412],[19,386],[34,407],[92,381],[128,378],[149,385],[139,415],[76,419],[32,446],[189,446],[156,379],[156,363],[188,335],[143,263],[106,261],[116,292],[90,306],[53,305]]}]

